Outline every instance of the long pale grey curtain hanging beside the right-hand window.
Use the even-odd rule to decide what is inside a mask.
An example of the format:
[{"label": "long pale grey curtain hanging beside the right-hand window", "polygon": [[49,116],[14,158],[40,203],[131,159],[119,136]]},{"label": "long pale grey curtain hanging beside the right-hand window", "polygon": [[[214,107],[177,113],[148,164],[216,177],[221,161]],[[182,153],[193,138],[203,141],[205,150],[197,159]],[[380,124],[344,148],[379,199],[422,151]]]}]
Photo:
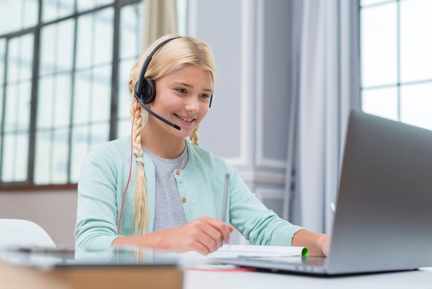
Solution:
[{"label": "long pale grey curtain hanging beside the right-hand window", "polygon": [[287,170],[290,219],[331,232],[329,203],[336,199],[348,113],[360,103],[358,3],[295,0],[292,12],[293,125],[288,138],[295,137],[288,145],[295,149],[288,149],[287,167],[295,167],[295,180]]}]

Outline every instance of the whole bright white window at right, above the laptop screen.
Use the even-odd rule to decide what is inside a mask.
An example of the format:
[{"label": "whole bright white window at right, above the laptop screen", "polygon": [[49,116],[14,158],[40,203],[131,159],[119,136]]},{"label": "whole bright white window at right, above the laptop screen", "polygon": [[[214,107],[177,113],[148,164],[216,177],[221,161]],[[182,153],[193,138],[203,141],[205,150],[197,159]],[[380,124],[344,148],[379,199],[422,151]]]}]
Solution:
[{"label": "whole bright white window at right, above the laptop screen", "polygon": [[432,129],[432,1],[361,0],[362,109]]}]

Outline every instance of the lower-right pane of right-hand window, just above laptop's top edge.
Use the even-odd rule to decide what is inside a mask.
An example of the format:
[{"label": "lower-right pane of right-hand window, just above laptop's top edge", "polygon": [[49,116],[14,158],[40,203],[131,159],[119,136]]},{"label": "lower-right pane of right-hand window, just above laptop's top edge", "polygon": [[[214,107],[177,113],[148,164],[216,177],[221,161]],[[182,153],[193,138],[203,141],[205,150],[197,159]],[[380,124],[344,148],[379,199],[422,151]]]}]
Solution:
[{"label": "lower-right pane of right-hand window, just above laptop's top edge", "polygon": [[432,83],[400,88],[401,121],[432,129]]}]

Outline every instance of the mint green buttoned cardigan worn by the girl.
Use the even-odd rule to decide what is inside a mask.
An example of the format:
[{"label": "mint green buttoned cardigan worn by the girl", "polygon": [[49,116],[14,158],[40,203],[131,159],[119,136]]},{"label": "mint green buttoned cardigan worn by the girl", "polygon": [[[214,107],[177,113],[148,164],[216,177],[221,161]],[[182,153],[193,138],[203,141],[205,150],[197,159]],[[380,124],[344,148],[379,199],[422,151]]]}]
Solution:
[{"label": "mint green buttoned cardigan worn by the girl", "polygon": [[[186,222],[199,216],[221,218],[224,176],[230,174],[228,209],[229,221],[254,245],[291,245],[293,235],[302,227],[292,225],[267,209],[251,193],[237,169],[222,158],[186,141],[188,164],[177,181],[179,198]],[[144,171],[148,198],[148,232],[155,218],[155,167],[144,155]],[[130,137],[112,140],[92,149],[81,167],[78,184],[77,249],[109,248],[117,236],[135,234],[136,156],[126,191],[120,232],[117,234],[119,210],[130,169]],[[177,172],[178,173],[178,172]]]}]

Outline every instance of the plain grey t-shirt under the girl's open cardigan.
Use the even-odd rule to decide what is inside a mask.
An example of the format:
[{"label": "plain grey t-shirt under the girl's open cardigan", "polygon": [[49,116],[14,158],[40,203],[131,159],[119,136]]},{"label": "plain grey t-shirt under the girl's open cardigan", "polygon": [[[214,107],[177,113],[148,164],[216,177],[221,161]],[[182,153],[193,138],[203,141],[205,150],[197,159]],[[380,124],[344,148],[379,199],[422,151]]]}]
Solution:
[{"label": "plain grey t-shirt under the girl's open cardigan", "polygon": [[178,158],[166,159],[156,156],[143,147],[144,152],[153,160],[156,173],[155,223],[153,232],[177,227],[186,223],[181,205],[174,171],[184,169],[188,163],[188,149]]}]

